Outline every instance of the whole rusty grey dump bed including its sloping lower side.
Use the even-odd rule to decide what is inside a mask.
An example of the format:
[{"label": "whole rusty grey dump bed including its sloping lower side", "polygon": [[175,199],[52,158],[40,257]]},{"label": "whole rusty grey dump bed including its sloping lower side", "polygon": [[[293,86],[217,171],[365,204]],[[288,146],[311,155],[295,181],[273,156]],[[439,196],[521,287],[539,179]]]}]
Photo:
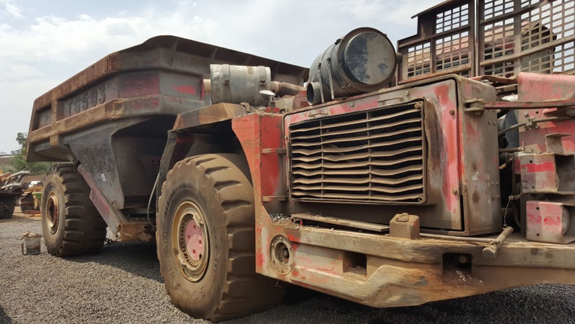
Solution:
[{"label": "whole rusty grey dump bed including its sloping lower side", "polygon": [[112,53],[34,101],[29,161],[79,161],[114,209],[144,207],[177,114],[210,104],[216,63],[264,65],[302,84],[307,69],[173,36]]}]

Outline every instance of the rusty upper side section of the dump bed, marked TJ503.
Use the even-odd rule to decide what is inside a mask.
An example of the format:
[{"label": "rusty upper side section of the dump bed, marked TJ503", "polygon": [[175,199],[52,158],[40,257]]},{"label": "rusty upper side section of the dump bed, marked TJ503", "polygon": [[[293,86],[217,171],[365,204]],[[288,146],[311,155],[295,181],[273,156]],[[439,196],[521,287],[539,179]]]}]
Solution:
[{"label": "rusty upper side section of the dump bed, marked TJ503", "polygon": [[307,68],[185,38],[150,38],[111,53],[37,98],[27,159],[70,160],[66,136],[109,120],[175,116],[209,105],[201,81],[216,63],[267,66],[272,80],[293,84],[302,84],[308,74]]}]

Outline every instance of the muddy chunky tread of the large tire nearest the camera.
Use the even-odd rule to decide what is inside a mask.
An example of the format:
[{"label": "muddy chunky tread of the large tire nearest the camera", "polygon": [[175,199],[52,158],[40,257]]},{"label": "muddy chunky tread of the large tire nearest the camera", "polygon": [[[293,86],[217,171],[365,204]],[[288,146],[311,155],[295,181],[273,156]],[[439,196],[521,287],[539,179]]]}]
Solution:
[{"label": "muddy chunky tread of the large tire nearest the camera", "polygon": [[[159,206],[171,200],[172,192],[168,188],[173,187],[171,183],[177,183],[182,174],[187,174],[183,169],[189,165],[196,167],[201,176],[212,183],[226,216],[223,226],[228,237],[228,265],[225,282],[221,283],[225,287],[217,306],[212,313],[205,315],[205,319],[224,321],[275,306],[285,295],[285,287],[274,285],[275,280],[255,273],[254,191],[250,175],[246,174],[249,168],[245,158],[235,154],[207,154],[179,161],[168,172],[158,198]],[[157,242],[160,242],[159,233],[156,232]],[[160,256],[159,244],[157,248]],[[160,267],[160,271],[166,282],[168,274],[163,268]],[[167,282],[165,287],[169,294]],[[179,300],[177,292],[171,297],[172,302],[186,313],[193,311],[186,307],[185,300]]]}]

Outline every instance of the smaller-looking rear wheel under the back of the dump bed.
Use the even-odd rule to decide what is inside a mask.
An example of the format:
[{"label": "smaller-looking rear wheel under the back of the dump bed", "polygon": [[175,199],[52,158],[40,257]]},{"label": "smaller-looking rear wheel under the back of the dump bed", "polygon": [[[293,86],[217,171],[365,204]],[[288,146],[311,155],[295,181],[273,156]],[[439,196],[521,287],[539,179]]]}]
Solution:
[{"label": "smaller-looking rear wheel under the back of the dump bed", "polygon": [[90,200],[90,187],[73,164],[52,167],[43,180],[42,232],[48,253],[75,256],[97,253],[106,223]]}]

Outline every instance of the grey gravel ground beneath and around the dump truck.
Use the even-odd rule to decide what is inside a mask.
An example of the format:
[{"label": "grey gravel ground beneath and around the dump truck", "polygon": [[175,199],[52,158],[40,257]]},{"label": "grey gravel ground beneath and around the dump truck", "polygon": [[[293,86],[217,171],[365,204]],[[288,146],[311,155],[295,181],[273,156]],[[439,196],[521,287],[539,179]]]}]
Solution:
[{"label": "grey gravel ground beneath and around the dump truck", "polygon": [[[94,256],[20,254],[39,217],[0,220],[0,323],[206,323],[170,304],[155,245],[106,244]],[[228,323],[575,323],[575,287],[539,285],[376,309],[290,287],[282,304]]]}]

